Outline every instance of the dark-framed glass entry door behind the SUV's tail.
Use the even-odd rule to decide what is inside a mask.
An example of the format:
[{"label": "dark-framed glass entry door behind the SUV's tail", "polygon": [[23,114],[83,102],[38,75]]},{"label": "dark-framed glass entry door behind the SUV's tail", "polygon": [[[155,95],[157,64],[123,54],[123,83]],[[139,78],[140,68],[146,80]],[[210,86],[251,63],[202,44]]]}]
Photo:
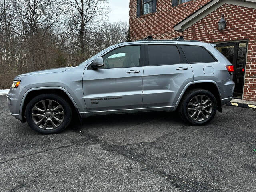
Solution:
[{"label": "dark-framed glass entry door behind the SUV's tail", "polygon": [[234,98],[242,99],[247,42],[221,43],[217,44],[216,49],[234,65],[233,81],[236,85],[233,96]]}]

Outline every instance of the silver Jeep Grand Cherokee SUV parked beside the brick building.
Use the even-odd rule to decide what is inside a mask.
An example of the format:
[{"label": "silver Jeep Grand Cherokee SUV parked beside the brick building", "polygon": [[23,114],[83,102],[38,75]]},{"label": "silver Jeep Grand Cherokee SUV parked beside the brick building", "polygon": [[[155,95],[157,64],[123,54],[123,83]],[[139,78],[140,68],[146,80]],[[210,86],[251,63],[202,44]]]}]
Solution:
[{"label": "silver Jeep Grand Cherokee SUV parked beside the brick building", "polygon": [[215,44],[139,40],[110,46],[77,67],[18,75],[7,94],[12,116],[52,134],[72,115],[177,110],[202,125],[232,99],[232,64]]}]

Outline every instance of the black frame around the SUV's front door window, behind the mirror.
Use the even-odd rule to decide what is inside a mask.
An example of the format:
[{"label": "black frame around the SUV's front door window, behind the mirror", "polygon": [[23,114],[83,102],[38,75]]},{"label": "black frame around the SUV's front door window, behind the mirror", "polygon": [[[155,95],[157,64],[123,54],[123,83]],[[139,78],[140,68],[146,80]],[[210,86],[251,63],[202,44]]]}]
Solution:
[{"label": "black frame around the SUV's front door window, behind the mirror", "polygon": [[[131,44],[131,45],[123,45],[123,46],[119,46],[119,47],[116,47],[112,50],[109,50],[108,52],[102,54],[100,57],[104,57],[106,54],[118,49],[118,48],[122,48],[122,47],[128,47],[128,46],[140,46],[140,59],[139,59],[139,66],[136,66],[136,67],[143,67],[144,66],[144,44]],[[88,65],[87,67],[87,70],[104,70],[104,69],[118,69],[118,68],[134,68],[134,67],[111,67],[111,68],[98,68],[98,69],[93,69],[91,67],[93,61]]]}]

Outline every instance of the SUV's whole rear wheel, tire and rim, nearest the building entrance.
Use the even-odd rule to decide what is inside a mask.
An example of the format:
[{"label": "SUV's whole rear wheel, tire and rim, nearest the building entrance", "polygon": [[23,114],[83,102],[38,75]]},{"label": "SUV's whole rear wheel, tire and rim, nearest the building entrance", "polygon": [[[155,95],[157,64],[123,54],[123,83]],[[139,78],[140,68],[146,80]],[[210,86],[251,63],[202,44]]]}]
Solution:
[{"label": "SUV's whole rear wheel, tire and rim, nearest the building entrance", "polygon": [[193,89],[183,96],[178,110],[184,121],[193,125],[203,125],[214,118],[217,100],[208,90]]}]

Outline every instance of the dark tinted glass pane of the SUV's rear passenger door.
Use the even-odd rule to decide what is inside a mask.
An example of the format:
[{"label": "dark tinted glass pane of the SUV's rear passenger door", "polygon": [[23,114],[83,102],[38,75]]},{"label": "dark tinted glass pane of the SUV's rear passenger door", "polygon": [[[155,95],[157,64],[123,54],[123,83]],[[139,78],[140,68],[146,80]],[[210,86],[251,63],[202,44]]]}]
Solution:
[{"label": "dark tinted glass pane of the SUV's rear passenger door", "polygon": [[148,65],[170,65],[180,63],[180,52],[176,45],[148,45]]}]

